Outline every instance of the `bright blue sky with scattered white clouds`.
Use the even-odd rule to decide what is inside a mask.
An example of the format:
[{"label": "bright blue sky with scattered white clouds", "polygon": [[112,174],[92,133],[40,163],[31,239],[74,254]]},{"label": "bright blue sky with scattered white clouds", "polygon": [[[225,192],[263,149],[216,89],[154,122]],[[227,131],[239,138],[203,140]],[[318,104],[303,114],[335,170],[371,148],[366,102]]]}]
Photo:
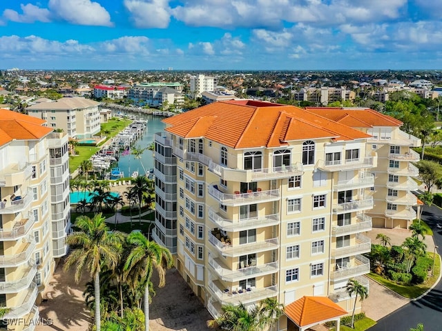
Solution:
[{"label": "bright blue sky with scattered white clouds", "polygon": [[441,0],[2,0],[0,68],[442,69]]}]

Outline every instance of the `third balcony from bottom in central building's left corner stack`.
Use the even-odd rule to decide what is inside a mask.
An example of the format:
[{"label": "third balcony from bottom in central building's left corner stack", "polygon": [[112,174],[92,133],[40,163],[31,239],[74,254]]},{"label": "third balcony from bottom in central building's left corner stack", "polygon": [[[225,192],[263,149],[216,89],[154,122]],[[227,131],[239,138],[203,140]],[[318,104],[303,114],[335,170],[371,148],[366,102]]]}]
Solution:
[{"label": "third balcony from bottom in central building's left corner stack", "polygon": [[211,231],[209,231],[209,242],[218,249],[222,255],[226,257],[239,257],[244,254],[265,252],[267,250],[278,249],[278,238],[265,239],[262,241],[255,241],[253,243],[243,243],[232,245],[231,243],[223,243],[218,240]]}]

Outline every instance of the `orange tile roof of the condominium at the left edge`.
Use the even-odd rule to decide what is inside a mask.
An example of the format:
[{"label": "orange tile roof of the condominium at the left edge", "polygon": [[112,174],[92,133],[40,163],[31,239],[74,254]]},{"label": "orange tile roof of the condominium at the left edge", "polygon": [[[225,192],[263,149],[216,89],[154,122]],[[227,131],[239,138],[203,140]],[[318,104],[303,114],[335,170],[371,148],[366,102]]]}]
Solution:
[{"label": "orange tile roof of the condominium at the left edge", "polygon": [[19,112],[0,109],[0,146],[17,140],[41,139],[53,129],[42,124],[46,121]]}]

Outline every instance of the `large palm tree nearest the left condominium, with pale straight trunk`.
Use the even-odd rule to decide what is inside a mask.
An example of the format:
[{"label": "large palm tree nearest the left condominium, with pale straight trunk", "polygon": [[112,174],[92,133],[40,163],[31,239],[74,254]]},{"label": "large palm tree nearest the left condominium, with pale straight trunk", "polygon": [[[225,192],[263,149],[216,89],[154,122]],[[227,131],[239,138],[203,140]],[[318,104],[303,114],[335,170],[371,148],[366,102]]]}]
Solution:
[{"label": "large palm tree nearest the left condominium, with pale straight trunk", "polygon": [[121,232],[110,232],[102,214],[95,214],[90,219],[87,216],[77,217],[75,227],[79,230],[68,235],[66,243],[72,252],[66,258],[64,270],[75,268],[75,281],[78,283],[84,268],[88,269],[94,279],[95,289],[95,325],[97,331],[101,328],[99,272],[103,267],[114,270],[119,259],[119,250],[124,241]]}]

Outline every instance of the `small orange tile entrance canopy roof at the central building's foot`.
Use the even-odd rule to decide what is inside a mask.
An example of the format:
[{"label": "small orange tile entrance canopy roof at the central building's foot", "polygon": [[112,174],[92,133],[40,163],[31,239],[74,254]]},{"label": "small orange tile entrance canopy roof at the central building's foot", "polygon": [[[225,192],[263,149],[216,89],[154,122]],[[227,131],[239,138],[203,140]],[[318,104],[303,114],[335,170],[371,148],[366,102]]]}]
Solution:
[{"label": "small orange tile entrance canopy roof at the central building's foot", "polygon": [[302,327],[346,315],[347,310],[340,308],[327,297],[302,297],[286,305],[284,313],[296,325]]}]

